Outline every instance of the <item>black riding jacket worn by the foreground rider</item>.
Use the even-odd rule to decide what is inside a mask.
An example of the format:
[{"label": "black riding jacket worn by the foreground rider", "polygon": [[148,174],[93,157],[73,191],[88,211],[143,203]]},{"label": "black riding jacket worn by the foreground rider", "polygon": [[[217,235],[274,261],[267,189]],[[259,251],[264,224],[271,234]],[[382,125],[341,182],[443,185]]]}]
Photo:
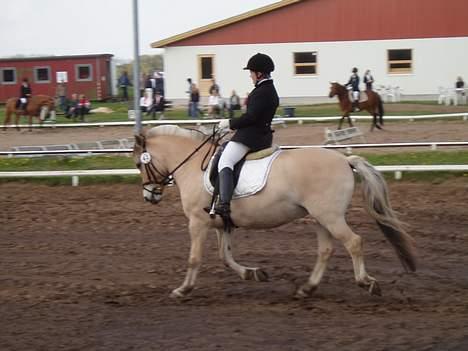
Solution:
[{"label": "black riding jacket worn by the foreground rider", "polygon": [[247,111],[239,118],[229,120],[230,128],[236,131],[231,141],[242,143],[251,151],[270,147],[273,141],[271,120],[278,105],[279,98],[273,80],[257,84],[249,94]]}]

